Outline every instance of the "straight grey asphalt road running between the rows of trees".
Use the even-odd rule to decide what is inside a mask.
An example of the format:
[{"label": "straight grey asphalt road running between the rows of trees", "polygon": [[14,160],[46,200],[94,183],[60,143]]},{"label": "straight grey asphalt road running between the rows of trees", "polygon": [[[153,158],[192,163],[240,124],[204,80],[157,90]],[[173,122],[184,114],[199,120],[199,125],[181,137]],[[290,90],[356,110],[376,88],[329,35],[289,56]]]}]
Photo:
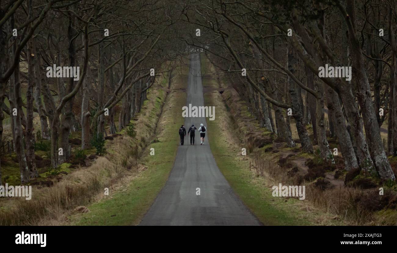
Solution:
[{"label": "straight grey asphalt road running between the rows of trees", "polygon": [[[191,55],[188,82],[187,106],[204,106],[198,54]],[[207,126],[205,118],[185,118],[186,131],[191,124],[198,129],[201,123]],[[208,133],[211,135],[211,129]],[[178,134],[178,129],[175,129],[175,134]],[[196,195],[196,188],[200,188],[200,195]],[[179,145],[170,177],[140,225],[261,223],[235,195],[216,166],[208,139],[205,138],[204,145],[200,145],[200,133],[196,130],[195,145],[190,145],[188,135],[185,144]]]}]

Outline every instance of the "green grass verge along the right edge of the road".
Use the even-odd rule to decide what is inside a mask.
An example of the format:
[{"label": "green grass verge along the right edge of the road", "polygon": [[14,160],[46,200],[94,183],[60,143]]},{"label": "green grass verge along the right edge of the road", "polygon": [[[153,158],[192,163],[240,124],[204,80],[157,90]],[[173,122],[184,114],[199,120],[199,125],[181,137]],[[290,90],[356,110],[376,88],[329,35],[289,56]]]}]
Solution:
[{"label": "green grass verge along the right edge of the road", "polygon": [[[206,105],[210,105],[208,97]],[[229,149],[222,136],[218,120],[208,121],[211,135],[208,138],[218,168],[243,203],[265,225],[310,225],[308,220],[299,218],[303,214],[291,208],[295,199],[275,198],[266,187],[263,178],[256,178],[249,170],[249,161],[240,160]],[[235,152],[234,152],[235,153]],[[282,206],[282,207],[280,207]],[[286,211],[288,210],[288,211]]]}]

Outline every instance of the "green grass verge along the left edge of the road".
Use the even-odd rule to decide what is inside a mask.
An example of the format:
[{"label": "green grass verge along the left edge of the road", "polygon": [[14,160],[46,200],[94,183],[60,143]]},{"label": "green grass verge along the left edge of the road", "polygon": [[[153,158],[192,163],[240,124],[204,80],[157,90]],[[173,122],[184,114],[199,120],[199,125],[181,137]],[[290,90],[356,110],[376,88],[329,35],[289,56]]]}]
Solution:
[{"label": "green grass verge along the left edge of the road", "polygon": [[[164,98],[165,93],[160,93]],[[146,170],[140,172],[131,180],[123,191],[112,194],[111,198],[94,203],[87,208],[90,212],[71,216],[73,225],[137,225],[143,215],[150,208],[154,199],[164,187],[173,168],[177,153],[179,136],[175,135],[175,129],[183,124],[183,118],[179,108],[185,105],[186,95],[183,92],[173,92],[169,95],[170,109],[165,110],[161,125],[167,127],[156,137],[160,142],[151,143],[144,151],[146,156],[142,158]],[[159,103],[157,105],[157,103]],[[156,110],[160,112],[162,99],[156,100]],[[168,106],[165,105],[164,108]],[[150,117],[155,114],[149,113]],[[150,148],[154,148],[155,155],[149,155]]]}]

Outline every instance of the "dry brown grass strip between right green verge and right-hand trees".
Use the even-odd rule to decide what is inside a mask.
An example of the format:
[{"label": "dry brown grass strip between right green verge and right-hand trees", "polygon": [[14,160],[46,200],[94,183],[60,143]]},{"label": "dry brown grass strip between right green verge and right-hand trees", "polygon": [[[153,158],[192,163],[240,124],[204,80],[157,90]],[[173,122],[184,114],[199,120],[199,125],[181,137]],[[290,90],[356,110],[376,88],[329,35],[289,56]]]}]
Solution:
[{"label": "dry brown grass strip between right green verge and right-hand trees", "polygon": [[[236,108],[231,108],[231,110],[236,110]],[[241,117],[241,115],[240,115]],[[234,121],[238,121],[239,124],[234,124],[234,127],[238,129],[243,129],[245,124],[244,120],[241,118],[236,118]],[[230,124],[228,122],[227,124]],[[226,124],[225,124],[226,126]],[[251,126],[252,127],[252,126]],[[238,129],[234,131],[239,131]],[[291,126],[291,129],[294,127]],[[252,130],[255,131],[255,130]],[[241,138],[241,141],[246,141]],[[274,183],[282,183],[283,185],[306,185],[306,206],[308,210],[319,210],[324,215],[319,215],[319,219],[322,223],[332,224],[331,220],[338,220],[344,224],[349,225],[379,225],[379,224],[390,224],[391,220],[382,220],[376,211],[371,210],[372,206],[386,206],[387,201],[382,201],[378,203],[375,199],[372,191],[367,192],[363,189],[357,187],[346,187],[333,186],[326,187],[326,189],[321,189],[316,186],[316,180],[306,181],[304,180],[304,174],[307,173],[307,169],[302,168],[297,169],[295,175],[289,175],[289,171],[293,169],[292,164],[289,164],[288,158],[284,159],[287,166],[279,166],[277,164],[279,158],[283,152],[281,148],[280,153],[270,153],[264,152],[263,150],[256,149],[255,147],[250,147],[250,143],[245,142],[243,145],[247,146],[247,150],[250,149],[251,153],[249,158],[251,158],[250,169],[255,174],[256,177],[265,178],[265,181],[270,182],[268,187],[274,185]],[[251,144],[252,145],[252,144]],[[286,152],[288,153],[288,152]],[[281,159],[280,159],[281,160]],[[325,180],[326,182],[327,180]],[[378,194],[378,193],[377,193]],[[378,194],[379,195],[379,194]],[[378,196],[379,197],[379,196]],[[368,203],[373,200],[374,203]],[[307,204],[309,202],[310,204]],[[371,206],[372,205],[372,206]],[[379,207],[382,209],[383,207]],[[377,220],[376,220],[377,219]]]}]

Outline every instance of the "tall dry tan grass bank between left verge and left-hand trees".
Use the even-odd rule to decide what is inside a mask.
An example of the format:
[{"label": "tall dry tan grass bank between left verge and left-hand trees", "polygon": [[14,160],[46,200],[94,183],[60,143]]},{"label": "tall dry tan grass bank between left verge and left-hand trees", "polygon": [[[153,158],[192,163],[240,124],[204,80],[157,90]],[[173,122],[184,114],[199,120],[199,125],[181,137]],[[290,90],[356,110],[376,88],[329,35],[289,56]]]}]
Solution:
[{"label": "tall dry tan grass bank between left verge and left-hand trees", "polygon": [[[162,87],[154,85],[150,97],[156,98]],[[163,102],[161,102],[163,104]],[[105,156],[98,157],[91,166],[78,168],[59,177],[52,187],[32,187],[32,199],[1,198],[0,225],[59,225],[67,219],[77,206],[84,206],[105,197],[104,188],[117,189],[126,185],[143,167],[139,157],[147,141],[155,133],[160,111],[148,117],[148,113],[159,110],[154,99],[146,102],[145,108],[135,121],[135,139],[121,135],[106,141]]]}]

